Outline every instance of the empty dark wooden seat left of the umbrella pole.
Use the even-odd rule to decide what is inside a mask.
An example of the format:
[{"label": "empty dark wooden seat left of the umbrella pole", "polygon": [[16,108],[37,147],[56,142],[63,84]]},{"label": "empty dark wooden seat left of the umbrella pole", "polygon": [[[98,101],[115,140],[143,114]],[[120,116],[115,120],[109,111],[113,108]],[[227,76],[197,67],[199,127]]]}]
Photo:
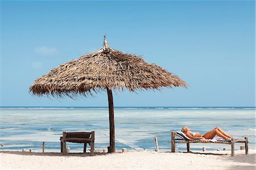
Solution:
[{"label": "empty dark wooden seat left of the umbrella pole", "polygon": [[66,142],[84,143],[84,153],[86,152],[87,143],[90,145],[90,156],[94,155],[94,131],[92,132],[63,132],[60,137],[60,151],[67,153]]}]

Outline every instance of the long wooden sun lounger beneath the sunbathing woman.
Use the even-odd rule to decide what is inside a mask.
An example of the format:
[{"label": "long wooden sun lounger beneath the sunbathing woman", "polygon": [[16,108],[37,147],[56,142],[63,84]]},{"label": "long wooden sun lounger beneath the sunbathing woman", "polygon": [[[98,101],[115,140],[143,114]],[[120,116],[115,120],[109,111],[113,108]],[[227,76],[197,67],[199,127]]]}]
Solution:
[{"label": "long wooden sun lounger beneath the sunbathing woman", "polygon": [[[179,136],[178,139],[175,138],[175,136]],[[187,143],[187,151],[190,151],[189,144],[190,143],[222,143],[222,144],[231,144],[231,156],[234,156],[234,144],[235,143],[245,143],[245,154],[248,154],[248,138],[245,137],[245,139],[237,139],[232,141],[216,141],[216,142],[211,142],[210,140],[185,140],[182,136],[177,134],[176,132],[172,132],[171,135],[171,152],[175,152],[175,143]]]}]

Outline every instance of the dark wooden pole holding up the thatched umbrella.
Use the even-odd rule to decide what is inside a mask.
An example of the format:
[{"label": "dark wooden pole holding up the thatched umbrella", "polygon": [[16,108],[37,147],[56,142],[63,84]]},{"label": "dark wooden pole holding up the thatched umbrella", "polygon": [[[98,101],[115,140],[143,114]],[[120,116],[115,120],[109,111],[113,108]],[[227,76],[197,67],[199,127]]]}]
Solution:
[{"label": "dark wooden pole holding up the thatched umbrella", "polygon": [[110,134],[110,147],[109,152],[115,152],[115,126],[114,126],[114,103],[112,90],[107,88],[109,99],[109,134]]}]

